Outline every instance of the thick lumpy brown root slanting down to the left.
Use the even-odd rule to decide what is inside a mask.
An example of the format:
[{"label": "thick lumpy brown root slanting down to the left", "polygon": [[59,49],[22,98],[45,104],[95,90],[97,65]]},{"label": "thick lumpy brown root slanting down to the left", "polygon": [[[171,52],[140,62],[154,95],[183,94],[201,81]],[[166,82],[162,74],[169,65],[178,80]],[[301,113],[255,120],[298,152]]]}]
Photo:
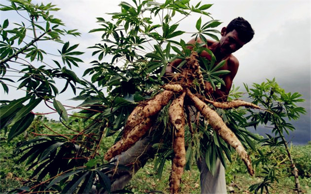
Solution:
[{"label": "thick lumpy brown root slanting down to the left", "polygon": [[104,159],[110,161],[133,146],[151,128],[153,121],[150,117],[157,114],[172,96],[172,91],[165,90],[154,98],[139,103],[127,118],[121,140],[108,149]]}]

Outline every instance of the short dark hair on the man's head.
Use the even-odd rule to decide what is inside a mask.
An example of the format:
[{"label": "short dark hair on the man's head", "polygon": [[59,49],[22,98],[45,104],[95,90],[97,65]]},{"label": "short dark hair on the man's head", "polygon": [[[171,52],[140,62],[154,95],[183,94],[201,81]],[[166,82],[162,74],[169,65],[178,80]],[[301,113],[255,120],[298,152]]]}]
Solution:
[{"label": "short dark hair on the man's head", "polygon": [[239,34],[239,38],[246,43],[252,40],[255,34],[251,25],[243,17],[237,17],[228,24],[226,32],[228,33],[233,30],[236,30]]}]

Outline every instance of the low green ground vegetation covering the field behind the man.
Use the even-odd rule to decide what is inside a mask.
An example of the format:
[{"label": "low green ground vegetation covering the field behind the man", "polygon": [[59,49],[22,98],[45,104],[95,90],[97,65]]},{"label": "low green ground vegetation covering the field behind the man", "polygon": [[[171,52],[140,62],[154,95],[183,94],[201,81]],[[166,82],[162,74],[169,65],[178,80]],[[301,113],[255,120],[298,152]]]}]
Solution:
[{"label": "low green ground vegetation covering the field behind the man", "polygon": [[[72,124],[78,126],[83,125],[81,119],[75,117],[69,117]],[[18,139],[7,142],[7,135],[1,134],[0,140],[0,193],[7,193],[13,191],[16,188],[27,186],[36,181],[37,176],[33,178],[34,169],[27,170],[25,168],[25,162],[18,163],[20,155],[16,154],[16,148],[18,141],[29,140],[34,137],[34,133],[48,132],[44,126],[53,127],[57,132],[62,132],[64,126],[60,122],[48,120],[45,117],[37,116],[35,118],[35,124],[31,126],[29,134],[22,134],[18,136]],[[32,131],[33,130],[33,131]],[[101,152],[105,151],[114,143],[114,136],[107,138],[105,145],[101,147]],[[265,165],[275,165],[276,161],[286,159],[286,153],[278,148],[274,149],[271,146],[265,146],[262,152],[269,153],[274,150],[273,160],[268,160],[265,164],[259,164],[255,167],[255,176],[250,177],[247,175],[247,168],[243,164],[242,160],[237,154],[232,155],[231,162],[227,162],[226,166],[226,183],[228,193],[234,194],[250,194],[249,187],[253,184],[262,182],[265,176]],[[291,145],[291,151],[293,153],[294,162],[298,168],[299,181],[302,188],[302,193],[310,194],[311,190],[311,142],[307,145]],[[258,152],[250,152],[250,157],[254,159]],[[273,183],[272,188],[269,190],[271,194],[290,194],[293,193],[294,178],[289,177],[290,170],[284,165],[279,165],[281,168],[278,172],[278,182]],[[125,188],[129,192],[134,194],[148,193],[148,194],[166,194],[170,193],[169,177],[171,175],[172,163],[166,161],[162,173],[162,178],[159,179],[155,171],[154,161],[150,160],[147,164],[138,171],[135,177],[130,181]],[[181,194],[199,194],[200,193],[200,172],[195,164],[192,165],[191,170],[186,170],[182,176],[180,184]]]}]

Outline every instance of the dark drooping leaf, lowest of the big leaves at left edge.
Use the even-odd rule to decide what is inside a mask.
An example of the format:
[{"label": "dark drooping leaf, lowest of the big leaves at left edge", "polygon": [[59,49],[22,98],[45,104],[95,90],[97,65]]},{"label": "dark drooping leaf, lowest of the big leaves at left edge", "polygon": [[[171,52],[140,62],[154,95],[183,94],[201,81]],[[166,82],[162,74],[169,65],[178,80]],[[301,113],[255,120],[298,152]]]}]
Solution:
[{"label": "dark drooping leaf, lowest of the big leaves at left edge", "polygon": [[28,113],[26,116],[22,117],[18,122],[16,122],[10,129],[8,135],[8,141],[11,141],[14,137],[24,132],[31,125],[35,118],[33,113]]}]

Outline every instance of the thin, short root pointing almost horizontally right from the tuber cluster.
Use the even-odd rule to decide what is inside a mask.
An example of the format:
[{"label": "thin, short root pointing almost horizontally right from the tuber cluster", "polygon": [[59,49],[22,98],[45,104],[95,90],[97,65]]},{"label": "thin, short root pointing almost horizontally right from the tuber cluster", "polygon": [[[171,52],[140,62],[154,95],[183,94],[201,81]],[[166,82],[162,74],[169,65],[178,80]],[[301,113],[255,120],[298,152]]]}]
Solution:
[{"label": "thin, short root pointing almost horizontally right from the tuber cluster", "polygon": [[261,109],[259,106],[256,104],[250,103],[250,102],[245,102],[243,100],[232,100],[229,102],[215,102],[209,99],[204,99],[208,103],[212,104],[216,108],[221,108],[221,109],[233,109],[233,108],[238,108],[238,107],[246,107],[246,108],[253,108],[253,109]]}]

